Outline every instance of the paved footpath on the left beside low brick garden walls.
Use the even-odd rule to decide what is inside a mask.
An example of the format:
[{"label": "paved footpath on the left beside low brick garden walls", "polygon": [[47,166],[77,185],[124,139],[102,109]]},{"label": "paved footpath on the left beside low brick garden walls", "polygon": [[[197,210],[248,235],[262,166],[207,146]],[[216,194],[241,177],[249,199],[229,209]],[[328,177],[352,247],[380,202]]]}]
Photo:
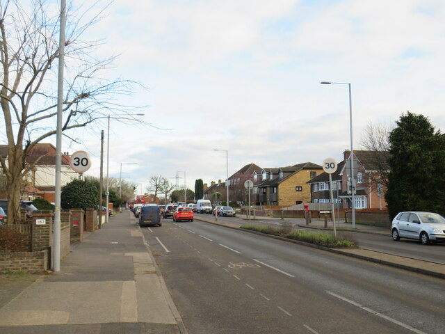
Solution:
[{"label": "paved footpath on the left beside low brick garden walls", "polygon": [[186,333],[129,212],[110,218],[63,258],[58,273],[0,308],[0,333]]}]

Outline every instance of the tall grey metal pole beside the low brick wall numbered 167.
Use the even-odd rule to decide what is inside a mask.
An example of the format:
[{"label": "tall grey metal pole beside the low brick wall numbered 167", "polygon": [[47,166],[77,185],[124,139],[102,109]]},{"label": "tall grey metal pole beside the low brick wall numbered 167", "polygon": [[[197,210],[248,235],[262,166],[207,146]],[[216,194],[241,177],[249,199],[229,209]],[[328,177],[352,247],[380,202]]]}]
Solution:
[{"label": "tall grey metal pole beside the low brick wall numbered 167", "polygon": [[58,81],[57,81],[57,129],[56,129],[56,182],[54,189],[54,239],[53,269],[60,271],[60,192],[62,173],[62,122],[63,122],[63,66],[65,61],[65,0],[60,0],[60,33],[58,42]]}]

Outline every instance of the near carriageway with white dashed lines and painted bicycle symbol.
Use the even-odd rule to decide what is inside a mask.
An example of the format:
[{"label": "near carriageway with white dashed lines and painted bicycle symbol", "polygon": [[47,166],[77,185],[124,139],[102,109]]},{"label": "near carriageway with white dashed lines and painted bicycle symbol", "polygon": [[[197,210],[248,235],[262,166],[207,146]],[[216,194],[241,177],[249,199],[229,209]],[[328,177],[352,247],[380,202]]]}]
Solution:
[{"label": "near carriageway with white dashed lines and painted bicycle symbol", "polygon": [[196,220],[142,230],[189,333],[443,333],[444,280]]}]

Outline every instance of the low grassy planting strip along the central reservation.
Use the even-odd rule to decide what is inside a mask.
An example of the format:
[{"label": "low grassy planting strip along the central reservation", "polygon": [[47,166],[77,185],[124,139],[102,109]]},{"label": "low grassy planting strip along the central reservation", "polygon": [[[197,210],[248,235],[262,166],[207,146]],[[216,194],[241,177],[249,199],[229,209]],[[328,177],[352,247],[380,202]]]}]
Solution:
[{"label": "low grassy planting strip along the central reservation", "polygon": [[325,246],[330,248],[352,248],[355,247],[353,239],[346,234],[337,233],[337,239],[328,232],[307,232],[301,230],[291,230],[288,228],[280,229],[273,228],[271,226],[260,225],[242,225],[241,228],[246,230],[257,231],[264,234],[273,234],[280,237],[304,241],[309,244],[315,244],[318,246]]}]

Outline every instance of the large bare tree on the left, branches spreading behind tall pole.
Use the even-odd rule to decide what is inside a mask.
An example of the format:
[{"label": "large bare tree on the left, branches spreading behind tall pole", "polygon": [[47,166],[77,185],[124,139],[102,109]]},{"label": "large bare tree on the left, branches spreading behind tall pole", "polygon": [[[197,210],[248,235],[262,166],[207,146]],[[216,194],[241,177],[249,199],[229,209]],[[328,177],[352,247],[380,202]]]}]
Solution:
[{"label": "large bare tree on the left, branches spreading behind tall pole", "polygon": [[[131,109],[119,105],[115,96],[130,94],[135,83],[104,79],[104,70],[114,57],[95,58],[99,43],[80,39],[103,15],[99,10],[83,23],[85,17],[91,17],[92,7],[81,10],[67,6],[65,135],[72,129]],[[37,143],[56,134],[59,19],[53,3],[46,0],[0,2],[0,105],[4,120],[0,143],[8,145],[7,159],[0,156],[0,164],[6,175],[10,223],[19,220],[21,182],[33,168],[26,162],[26,156]]]}]

